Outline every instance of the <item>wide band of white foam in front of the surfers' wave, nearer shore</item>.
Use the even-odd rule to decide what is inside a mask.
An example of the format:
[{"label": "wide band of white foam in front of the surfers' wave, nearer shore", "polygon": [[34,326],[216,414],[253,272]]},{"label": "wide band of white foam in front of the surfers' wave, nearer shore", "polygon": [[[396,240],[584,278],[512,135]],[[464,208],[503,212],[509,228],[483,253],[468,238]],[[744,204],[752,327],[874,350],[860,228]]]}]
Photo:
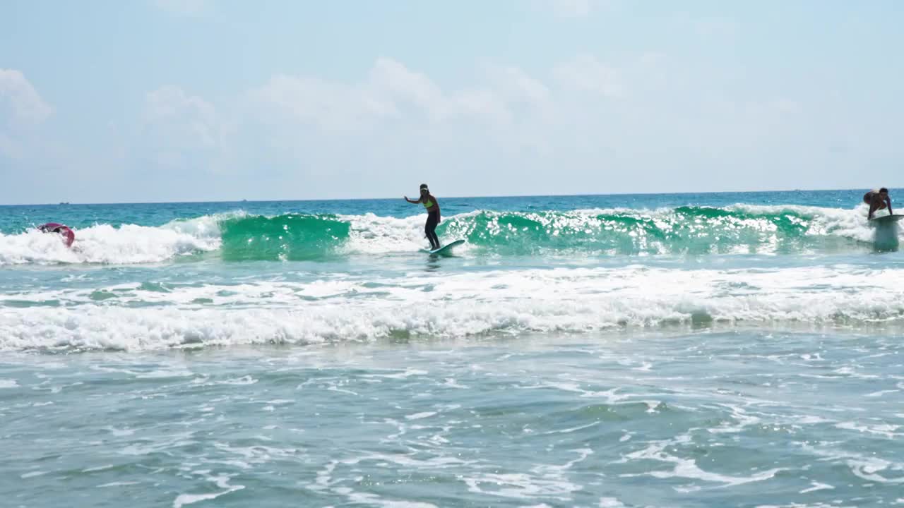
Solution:
[{"label": "wide band of white foam in front of the surfers' wave, nearer shore", "polygon": [[[429,294],[424,287],[431,288]],[[700,320],[880,324],[899,323],[904,316],[904,269],[894,268],[631,266],[346,278],[331,281],[328,291],[317,283],[285,281],[229,286],[226,292],[217,285],[168,293],[138,284],[118,288],[127,288],[127,295],[102,303],[91,299],[94,288],[0,295],[0,302],[54,299],[63,304],[0,306],[0,349],[320,343],[399,332],[438,337],[578,333]],[[363,297],[370,293],[377,295]],[[883,297],[863,297],[867,294]],[[198,303],[199,298],[208,303]],[[442,305],[425,306],[425,298]],[[143,305],[131,306],[134,302]]]}]

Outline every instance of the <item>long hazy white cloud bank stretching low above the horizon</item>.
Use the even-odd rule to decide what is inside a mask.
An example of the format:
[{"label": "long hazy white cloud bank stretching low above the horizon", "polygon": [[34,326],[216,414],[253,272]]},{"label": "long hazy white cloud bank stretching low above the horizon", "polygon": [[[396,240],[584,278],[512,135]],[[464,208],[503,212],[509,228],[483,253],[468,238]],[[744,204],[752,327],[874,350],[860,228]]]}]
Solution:
[{"label": "long hazy white cloud bank stretching low above the horizon", "polygon": [[[758,154],[792,153],[812,130],[806,113],[814,108],[794,97],[720,89],[709,74],[659,53],[616,62],[579,54],[534,74],[483,71],[448,87],[380,58],[353,82],[279,74],[216,106],[183,89],[157,89],[146,97],[142,142],[154,150],[146,160],[196,176],[225,160],[231,184],[271,198],[286,197],[278,189],[297,189],[297,197],[386,195],[425,171],[448,193],[474,193],[476,181],[480,193],[573,192],[589,172],[637,168],[658,185],[650,190],[689,190],[674,161],[707,172],[716,190],[755,186],[753,176],[738,174],[758,175]],[[238,127],[223,127],[223,118]],[[268,180],[250,176],[259,168]],[[548,188],[530,177],[551,170]],[[597,186],[588,192],[635,184],[589,183]]]}]

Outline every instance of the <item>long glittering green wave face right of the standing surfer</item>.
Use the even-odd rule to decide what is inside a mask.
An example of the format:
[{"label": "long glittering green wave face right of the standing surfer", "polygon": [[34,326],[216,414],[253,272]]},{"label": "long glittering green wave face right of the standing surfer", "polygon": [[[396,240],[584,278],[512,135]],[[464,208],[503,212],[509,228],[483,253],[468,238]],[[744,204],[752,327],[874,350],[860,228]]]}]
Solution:
[{"label": "long glittering green wave face right of the standing surfer", "polygon": [[743,212],[686,206],[667,212],[478,212],[449,219],[447,238],[497,254],[795,253],[856,248],[802,212]]}]

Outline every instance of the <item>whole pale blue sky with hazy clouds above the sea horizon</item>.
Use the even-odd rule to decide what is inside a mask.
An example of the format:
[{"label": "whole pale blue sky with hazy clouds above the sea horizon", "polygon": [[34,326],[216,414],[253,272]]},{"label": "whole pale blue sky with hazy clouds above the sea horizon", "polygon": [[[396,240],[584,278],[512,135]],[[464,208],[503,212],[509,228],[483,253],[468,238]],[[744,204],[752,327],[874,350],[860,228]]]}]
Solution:
[{"label": "whole pale blue sky with hazy clouds above the sea horizon", "polygon": [[898,0],[0,2],[0,204],[904,186]]}]

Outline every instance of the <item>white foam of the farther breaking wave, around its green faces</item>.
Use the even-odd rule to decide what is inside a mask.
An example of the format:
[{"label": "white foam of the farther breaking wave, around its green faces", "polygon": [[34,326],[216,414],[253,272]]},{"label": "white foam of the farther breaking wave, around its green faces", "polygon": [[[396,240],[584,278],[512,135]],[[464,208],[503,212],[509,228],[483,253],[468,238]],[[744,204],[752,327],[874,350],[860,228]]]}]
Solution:
[{"label": "white foam of the farther breaking wave, around its green faces", "polygon": [[[865,205],[854,209],[835,209],[798,205],[744,205],[738,204],[727,208],[730,211],[762,215],[788,214],[789,221],[806,221],[809,236],[833,236],[863,242],[897,240],[897,228],[872,228],[866,221]],[[474,227],[475,219],[484,214],[490,219],[487,228],[492,232],[513,232],[512,226],[494,221],[513,212],[476,211],[460,213],[444,217],[447,224],[447,238],[458,239],[466,236]],[[583,231],[586,234],[598,234],[609,229],[599,215],[622,214],[629,217],[653,221],[662,230],[672,230],[683,226],[683,218],[678,217],[673,209],[655,210],[630,209],[583,209],[562,212],[523,212],[524,217],[537,221],[552,236],[558,236],[566,230]],[[97,224],[89,228],[76,230],[76,240],[72,248],[67,248],[58,235],[44,234],[31,230],[19,234],[4,235],[0,233],[0,266],[19,264],[54,264],[54,263],[107,263],[134,264],[155,263],[174,259],[180,255],[199,251],[212,251],[221,246],[221,221],[247,217],[246,212],[231,212],[199,217],[191,220],[172,221],[159,227],[124,224],[112,227],[108,224]],[[804,219],[799,219],[803,217]],[[378,216],[373,213],[363,215],[339,215],[338,219],[349,223],[349,238],[340,247],[345,254],[365,253],[384,254],[395,252],[414,252],[426,245],[424,238],[424,214],[404,218]],[[776,225],[772,221],[759,218],[730,220],[714,218],[712,226],[730,225],[732,228],[744,226],[752,230],[772,233]],[[730,222],[730,223],[729,223]],[[700,226],[700,225],[698,225]],[[706,224],[702,225],[706,227]],[[636,248],[644,252],[669,253],[680,246],[662,244],[662,240],[648,238],[646,235],[632,234]],[[772,235],[775,236],[774,234]],[[889,237],[890,238],[885,238]],[[772,252],[777,248],[777,238],[768,240],[758,246],[759,252]],[[503,241],[503,240],[500,240]],[[500,247],[504,247],[500,245]],[[535,247],[544,247],[542,245]],[[457,253],[467,253],[475,249],[470,244],[459,247]],[[723,247],[727,249],[727,247]],[[733,251],[743,253],[749,250],[746,244],[739,244]]]}]

